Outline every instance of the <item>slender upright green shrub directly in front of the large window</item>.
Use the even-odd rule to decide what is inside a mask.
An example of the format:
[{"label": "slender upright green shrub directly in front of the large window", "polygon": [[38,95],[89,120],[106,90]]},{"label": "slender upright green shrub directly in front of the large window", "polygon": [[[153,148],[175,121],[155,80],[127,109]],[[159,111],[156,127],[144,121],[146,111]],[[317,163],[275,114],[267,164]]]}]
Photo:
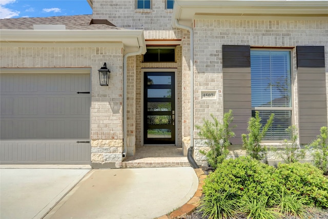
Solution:
[{"label": "slender upright green shrub directly in front of the large window", "polygon": [[272,126],[274,114],[271,113],[267,124],[262,127],[259,112],[256,111],[255,117],[251,117],[248,122],[247,131],[249,134],[241,134],[242,145],[246,149],[246,153],[256,160],[263,160],[267,155],[267,147],[262,147],[261,142],[269,128]]}]

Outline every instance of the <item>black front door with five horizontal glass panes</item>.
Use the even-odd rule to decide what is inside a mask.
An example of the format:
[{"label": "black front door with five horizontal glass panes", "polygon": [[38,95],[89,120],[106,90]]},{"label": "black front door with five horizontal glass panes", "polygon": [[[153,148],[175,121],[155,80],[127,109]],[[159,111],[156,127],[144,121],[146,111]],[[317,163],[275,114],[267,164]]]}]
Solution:
[{"label": "black front door with five horizontal glass panes", "polygon": [[175,144],[174,72],[145,72],[144,85],[144,144]]}]

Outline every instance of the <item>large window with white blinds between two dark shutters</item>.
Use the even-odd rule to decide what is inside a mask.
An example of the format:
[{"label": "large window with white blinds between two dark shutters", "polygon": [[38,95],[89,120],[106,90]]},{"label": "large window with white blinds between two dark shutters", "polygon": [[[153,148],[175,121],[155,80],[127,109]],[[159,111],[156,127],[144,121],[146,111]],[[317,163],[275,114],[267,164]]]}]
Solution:
[{"label": "large window with white blinds between two dark shutters", "polygon": [[264,140],[288,139],[292,124],[291,52],[251,50],[252,116],[259,111],[261,123],[275,114]]}]

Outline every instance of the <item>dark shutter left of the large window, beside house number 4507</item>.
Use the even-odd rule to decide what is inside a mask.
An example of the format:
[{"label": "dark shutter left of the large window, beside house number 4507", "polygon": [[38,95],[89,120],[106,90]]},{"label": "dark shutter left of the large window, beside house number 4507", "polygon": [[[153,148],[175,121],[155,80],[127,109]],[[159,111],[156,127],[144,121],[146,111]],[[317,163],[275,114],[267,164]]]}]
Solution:
[{"label": "dark shutter left of the large window, beside house number 4507", "polygon": [[248,120],[252,116],[251,97],[251,47],[222,45],[223,66],[223,112],[233,111],[231,124],[236,137],[234,145],[241,145],[241,134],[246,133]]}]

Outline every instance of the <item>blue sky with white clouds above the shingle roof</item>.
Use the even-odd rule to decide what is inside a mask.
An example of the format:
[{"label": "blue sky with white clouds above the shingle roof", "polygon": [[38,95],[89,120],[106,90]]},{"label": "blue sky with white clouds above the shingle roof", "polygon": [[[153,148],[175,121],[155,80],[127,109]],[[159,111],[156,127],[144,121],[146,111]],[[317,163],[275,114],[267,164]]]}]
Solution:
[{"label": "blue sky with white clouds above the shingle roof", "polygon": [[92,14],[87,0],[0,0],[0,18]]}]

